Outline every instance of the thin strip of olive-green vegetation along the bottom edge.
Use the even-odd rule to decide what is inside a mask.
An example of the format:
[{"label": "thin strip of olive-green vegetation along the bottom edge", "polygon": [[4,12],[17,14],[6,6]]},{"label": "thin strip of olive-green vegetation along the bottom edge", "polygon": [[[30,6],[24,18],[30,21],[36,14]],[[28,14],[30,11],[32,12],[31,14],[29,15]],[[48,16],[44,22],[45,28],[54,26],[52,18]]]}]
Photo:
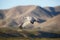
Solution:
[{"label": "thin strip of olive-green vegetation along the bottom edge", "polygon": [[60,38],[20,38],[20,37],[11,37],[11,38],[0,38],[0,40],[60,40]]}]

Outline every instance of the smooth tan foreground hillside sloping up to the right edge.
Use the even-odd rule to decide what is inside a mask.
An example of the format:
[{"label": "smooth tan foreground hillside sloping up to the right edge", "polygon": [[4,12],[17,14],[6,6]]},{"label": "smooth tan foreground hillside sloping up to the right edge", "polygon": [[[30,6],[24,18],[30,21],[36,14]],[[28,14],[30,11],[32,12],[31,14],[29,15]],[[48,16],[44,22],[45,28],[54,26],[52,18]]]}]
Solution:
[{"label": "smooth tan foreground hillside sloping up to the right edge", "polygon": [[60,15],[57,15],[53,18],[48,19],[44,23],[34,23],[34,26],[36,28],[40,28],[40,30],[45,31],[45,32],[52,32],[52,33],[58,33],[60,32]]}]

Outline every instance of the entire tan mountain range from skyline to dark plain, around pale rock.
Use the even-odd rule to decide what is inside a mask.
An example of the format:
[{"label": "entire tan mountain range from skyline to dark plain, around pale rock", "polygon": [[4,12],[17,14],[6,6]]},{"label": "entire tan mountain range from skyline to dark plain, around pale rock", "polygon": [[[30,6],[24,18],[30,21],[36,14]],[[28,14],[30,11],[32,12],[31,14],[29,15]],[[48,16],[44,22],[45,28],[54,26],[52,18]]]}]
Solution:
[{"label": "entire tan mountain range from skyline to dark plain, around pale rock", "polygon": [[28,25],[22,29],[33,29],[33,31],[37,29],[38,31],[51,33],[60,32],[60,6],[40,7],[28,5],[16,6],[10,9],[0,9],[0,28],[6,28],[8,31],[20,31],[20,25],[24,24],[25,17],[27,16],[33,17],[36,21],[34,24],[28,23]]}]

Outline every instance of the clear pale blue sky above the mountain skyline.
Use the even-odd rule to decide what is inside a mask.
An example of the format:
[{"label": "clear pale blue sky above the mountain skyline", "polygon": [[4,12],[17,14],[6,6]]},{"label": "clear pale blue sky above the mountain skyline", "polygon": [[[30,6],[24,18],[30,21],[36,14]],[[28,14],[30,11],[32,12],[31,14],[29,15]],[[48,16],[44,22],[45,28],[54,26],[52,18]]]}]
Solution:
[{"label": "clear pale blue sky above the mountain skyline", "polygon": [[14,6],[36,5],[41,7],[60,6],[60,0],[0,0],[0,9],[9,9]]}]

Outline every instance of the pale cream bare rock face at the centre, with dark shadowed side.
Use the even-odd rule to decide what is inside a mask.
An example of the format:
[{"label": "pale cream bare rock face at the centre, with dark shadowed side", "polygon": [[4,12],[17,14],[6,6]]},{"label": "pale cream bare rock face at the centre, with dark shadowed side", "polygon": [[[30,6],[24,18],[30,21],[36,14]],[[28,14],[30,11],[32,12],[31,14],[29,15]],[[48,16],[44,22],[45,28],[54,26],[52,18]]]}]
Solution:
[{"label": "pale cream bare rock face at the centre, with dark shadowed side", "polygon": [[32,29],[33,28],[33,23],[35,22],[35,19],[33,17],[27,16],[24,18],[24,22],[21,25],[22,28],[24,29]]}]

